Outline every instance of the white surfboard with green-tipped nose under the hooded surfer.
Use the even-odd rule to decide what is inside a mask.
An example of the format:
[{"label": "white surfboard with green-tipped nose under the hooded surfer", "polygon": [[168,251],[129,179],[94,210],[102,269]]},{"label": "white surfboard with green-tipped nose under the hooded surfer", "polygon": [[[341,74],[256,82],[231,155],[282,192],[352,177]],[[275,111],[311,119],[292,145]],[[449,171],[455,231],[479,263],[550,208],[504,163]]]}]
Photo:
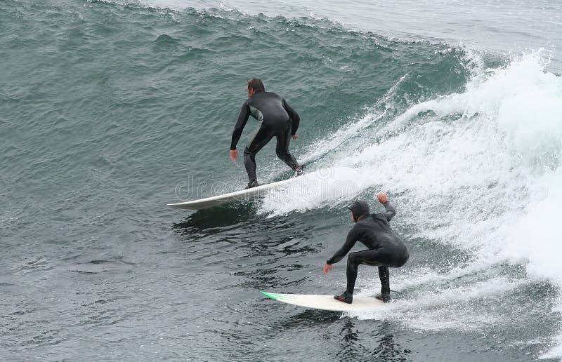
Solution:
[{"label": "white surfboard with green-tipped nose under the hooded surfer", "polygon": [[353,297],[353,303],[348,304],[335,300],[333,295],[261,293],[287,304],[325,311],[366,311],[388,307],[388,303],[374,297]]}]

